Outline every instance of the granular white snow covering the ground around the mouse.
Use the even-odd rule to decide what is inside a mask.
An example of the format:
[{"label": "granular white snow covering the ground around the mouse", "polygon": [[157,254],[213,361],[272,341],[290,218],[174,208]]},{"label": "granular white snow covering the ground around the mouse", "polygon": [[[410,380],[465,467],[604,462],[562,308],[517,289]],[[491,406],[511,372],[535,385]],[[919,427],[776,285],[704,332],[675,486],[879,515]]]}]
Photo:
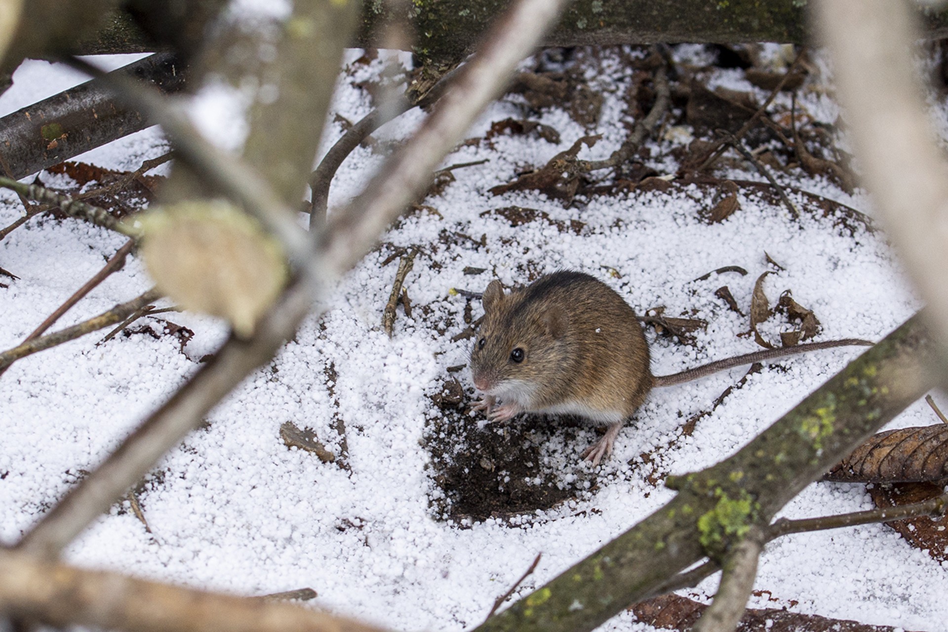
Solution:
[{"label": "granular white snow covering the ground around the mouse", "polygon": [[[381,67],[378,61],[354,63],[357,56],[347,56],[348,73],[339,82],[334,106],[352,121],[369,111],[368,97],[354,84],[377,76]],[[608,60],[603,67],[609,69]],[[24,64],[14,80],[0,98],[0,115],[78,78],[61,67],[35,62]],[[594,133],[604,137],[580,157],[606,157],[626,135],[616,122],[624,107],[623,81],[599,86],[605,101]],[[716,81],[750,89],[726,73]],[[934,105],[948,112],[945,102]],[[819,92],[801,92],[797,107],[820,120],[836,117],[835,105]],[[380,136],[404,137],[419,117],[409,113],[383,128]],[[516,98],[492,105],[468,137],[483,136],[492,122],[506,117],[522,117]],[[863,229],[851,233],[836,226],[833,218],[823,218],[803,198],[795,199],[804,211],[796,221],[782,206],[741,194],[740,210],[709,226],[698,211],[712,203],[706,190],[698,188],[603,196],[583,201],[579,208],[564,208],[532,192],[491,195],[487,189],[508,182],[522,166],[542,165],[589,133],[556,109],[537,119],[556,128],[560,145],[496,135],[491,143],[467,144],[449,155],[446,166],[487,162],[455,170],[456,181],[425,201],[437,212],[418,211],[387,233],[382,241],[390,245],[365,257],[337,285],[329,311],[307,319],[273,363],[256,371],[210,414],[206,427],[155,466],[140,494],[152,533],[127,511],[126,501],[102,515],[69,547],[66,558],[83,566],[244,594],[312,587],[319,593],[312,603],[338,613],[396,629],[460,630],[483,621],[494,600],[538,552],[543,553],[538,568],[518,594],[550,580],[660,507],[672,493],[648,482],[649,472],[681,474],[722,459],[860,350],[797,356],[780,363],[784,370],[752,375],[702,419],[691,437],[679,437],[680,425],[708,409],[743,371],[656,389],[634,426],[619,436],[611,459],[595,472],[593,491],[523,516],[517,524],[495,519],[454,524],[443,520],[437,509],[442,491],[422,442],[431,420],[440,414],[431,395],[447,379],[447,368],[464,364],[468,352],[469,341],[451,342],[466,327],[465,298],[451,293],[452,288],[481,291],[492,272],[505,283],[522,283],[529,271],[574,268],[609,282],[639,313],[665,306],[667,316],[707,320],[694,347],[649,334],[657,374],[755,351],[752,338],[738,337],[748,330],[746,317],[728,310],[714,292],[728,285],[746,313],[755,280],[774,269],[765,261],[765,252],[785,268],[765,281],[771,304],[791,289],[793,298],[822,322],[823,339],[880,339],[920,306],[884,234]],[[325,142],[340,133],[338,123],[331,125]],[[81,159],[133,170],[142,159],[165,151],[164,140],[153,128]],[[358,148],[337,176],[330,206],[343,204],[381,160],[369,149]],[[752,172],[738,175],[760,179]],[[850,197],[820,179],[793,177],[798,189],[871,213],[864,196]],[[511,206],[546,211],[554,221],[578,219],[585,226],[578,232],[560,231],[538,220],[512,227],[497,214],[482,215]],[[0,226],[22,212],[14,195],[0,191]],[[474,241],[442,239],[455,233]],[[486,245],[475,244],[482,235]],[[0,277],[9,284],[0,288],[0,349],[18,344],[123,242],[122,236],[94,226],[41,219],[0,242],[0,266],[20,278]],[[384,267],[380,263],[393,246],[413,244],[422,246],[406,283],[413,315],[407,318],[399,310],[390,339],[379,323],[397,258]],[[742,266],[749,274],[696,280],[725,265]],[[488,272],[465,275],[467,266]],[[618,275],[609,274],[609,268]],[[133,298],[149,286],[141,263],[132,258],[56,329]],[[479,316],[477,301],[473,308]],[[118,336],[97,346],[104,333],[91,334],[21,360],[0,377],[4,543],[17,540],[224,338],[224,327],[210,318],[164,316],[194,331],[184,352],[172,337]],[[762,330],[775,337],[778,326],[768,324]],[[336,372],[335,383],[327,378],[329,367]],[[458,375],[468,387],[466,372]],[[938,393],[935,396],[943,402]],[[281,424],[293,422],[313,428],[327,447],[338,451],[337,418],[345,422],[348,471],[287,449],[281,440]],[[891,427],[932,423],[930,409],[917,403]],[[504,429],[482,430],[501,431],[517,432],[516,420]],[[544,446],[545,458],[556,463],[564,484],[577,474],[591,474],[576,453],[593,439],[593,431],[578,432],[578,440],[556,435],[560,438]],[[648,466],[638,460],[642,453],[652,455]],[[870,507],[861,485],[815,483],[784,515]],[[703,599],[716,586],[713,578],[685,593]],[[781,538],[766,551],[756,587],[775,600],[765,593],[752,602],[758,607],[786,606],[862,623],[948,630],[948,568],[880,525]],[[603,629],[628,629],[631,621],[630,614],[622,614]]]}]

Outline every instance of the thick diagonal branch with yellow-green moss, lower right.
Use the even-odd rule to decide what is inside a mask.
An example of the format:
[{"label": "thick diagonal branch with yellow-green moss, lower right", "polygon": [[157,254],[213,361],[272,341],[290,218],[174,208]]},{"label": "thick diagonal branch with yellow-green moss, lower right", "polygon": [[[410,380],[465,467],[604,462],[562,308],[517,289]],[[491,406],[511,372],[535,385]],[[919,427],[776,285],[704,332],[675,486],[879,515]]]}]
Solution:
[{"label": "thick diagonal branch with yellow-green moss, lower right", "polygon": [[720,557],[933,388],[935,364],[934,345],[914,316],[738,453],[669,480],[679,494],[663,508],[476,629],[592,630],[673,573],[708,554]]}]

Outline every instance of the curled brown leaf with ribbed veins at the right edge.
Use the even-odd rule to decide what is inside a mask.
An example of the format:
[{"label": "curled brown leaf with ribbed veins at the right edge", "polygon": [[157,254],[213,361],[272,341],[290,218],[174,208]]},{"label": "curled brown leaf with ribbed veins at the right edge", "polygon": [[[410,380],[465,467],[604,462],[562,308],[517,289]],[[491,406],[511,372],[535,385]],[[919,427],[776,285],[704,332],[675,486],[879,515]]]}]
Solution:
[{"label": "curled brown leaf with ribbed veins at the right edge", "polygon": [[948,478],[948,424],[887,430],[869,437],[824,477],[847,482]]}]

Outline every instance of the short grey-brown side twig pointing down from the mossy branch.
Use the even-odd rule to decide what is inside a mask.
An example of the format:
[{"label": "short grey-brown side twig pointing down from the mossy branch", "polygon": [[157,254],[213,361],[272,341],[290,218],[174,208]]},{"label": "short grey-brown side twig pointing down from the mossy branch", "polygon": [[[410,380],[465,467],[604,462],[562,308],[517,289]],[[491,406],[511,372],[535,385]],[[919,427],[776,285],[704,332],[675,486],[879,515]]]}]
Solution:
[{"label": "short grey-brown side twig pointing down from the mossy branch", "polygon": [[757,560],[764,550],[764,534],[751,527],[728,552],[720,575],[718,593],[702,618],[691,628],[695,632],[732,632],[744,614],[757,577]]}]

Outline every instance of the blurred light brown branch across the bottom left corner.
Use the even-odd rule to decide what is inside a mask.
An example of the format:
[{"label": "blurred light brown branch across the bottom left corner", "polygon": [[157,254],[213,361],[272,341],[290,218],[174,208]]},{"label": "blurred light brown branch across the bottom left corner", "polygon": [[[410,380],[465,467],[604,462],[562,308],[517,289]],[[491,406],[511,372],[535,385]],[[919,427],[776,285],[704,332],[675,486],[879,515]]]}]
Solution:
[{"label": "blurred light brown branch across the bottom left corner", "polygon": [[128,632],[380,632],[312,608],[83,570],[0,550],[4,614]]}]

